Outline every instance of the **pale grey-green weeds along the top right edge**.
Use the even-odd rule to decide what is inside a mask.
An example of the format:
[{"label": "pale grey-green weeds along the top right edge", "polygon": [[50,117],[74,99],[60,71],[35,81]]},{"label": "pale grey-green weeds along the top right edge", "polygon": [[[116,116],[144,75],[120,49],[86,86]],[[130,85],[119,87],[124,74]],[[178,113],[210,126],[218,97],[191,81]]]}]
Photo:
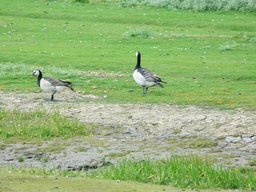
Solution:
[{"label": "pale grey-green weeds along the top right edge", "polygon": [[203,11],[249,11],[255,12],[255,3],[251,0],[123,0],[125,5],[148,5],[157,8],[169,8],[171,10],[185,9],[196,12]]}]

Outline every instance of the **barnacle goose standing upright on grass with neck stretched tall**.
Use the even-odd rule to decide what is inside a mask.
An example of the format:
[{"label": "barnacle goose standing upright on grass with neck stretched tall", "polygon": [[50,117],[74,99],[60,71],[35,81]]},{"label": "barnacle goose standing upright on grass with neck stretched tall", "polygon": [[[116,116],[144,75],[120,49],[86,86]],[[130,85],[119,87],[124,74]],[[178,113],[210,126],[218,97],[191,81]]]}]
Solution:
[{"label": "barnacle goose standing upright on grass with neck stretched tall", "polygon": [[[136,52],[137,56],[137,65],[134,68],[133,71],[133,78],[136,81],[137,84],[141,85],[143,87],[143,94],[147,94],[148,87],[153,87],[155,85],[159,85],[164,88],[162,83],[166,83],[161,80],[159,76],[157,76],[155,73],[152,71],[140,67],[140,52]],[[146,92],[145,92],[145,87],[146,87]]]}]

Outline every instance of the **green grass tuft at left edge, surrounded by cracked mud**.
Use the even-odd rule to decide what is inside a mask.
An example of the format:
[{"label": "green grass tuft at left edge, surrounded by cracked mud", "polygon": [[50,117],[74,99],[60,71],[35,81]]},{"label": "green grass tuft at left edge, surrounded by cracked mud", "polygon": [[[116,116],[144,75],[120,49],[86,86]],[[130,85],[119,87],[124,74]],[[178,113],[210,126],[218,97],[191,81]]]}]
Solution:
[{"label": "green grass tuft at left edge, surrounded by cracked mud", "polygon": [[75,135],[90,136],[87,124],[71,119],[59,111],[37,108],[33,111],[20,111],[19,108],[0,110],[0,140],[18,136],[20,139],[52,137],[68,138]]}]

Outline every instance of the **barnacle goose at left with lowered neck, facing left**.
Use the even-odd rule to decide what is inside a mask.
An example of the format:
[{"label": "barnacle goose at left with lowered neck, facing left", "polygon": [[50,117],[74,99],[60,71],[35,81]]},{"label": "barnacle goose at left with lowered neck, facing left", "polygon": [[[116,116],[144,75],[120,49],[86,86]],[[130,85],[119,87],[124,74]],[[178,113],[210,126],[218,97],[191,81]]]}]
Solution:
[{"label": "barnacle goose at left with lowered neck, facing left", "polygon": [[52,92],[52,99],[55,93],[62,92],[65,89],[71,89],[74,91],[69,84],[72,84],[68,81],[63,81],[54,77],[42,77],[42,72],[40,70],[33,71],[32,75],[38,76],[37,78],[37,85],[46,92]]}]

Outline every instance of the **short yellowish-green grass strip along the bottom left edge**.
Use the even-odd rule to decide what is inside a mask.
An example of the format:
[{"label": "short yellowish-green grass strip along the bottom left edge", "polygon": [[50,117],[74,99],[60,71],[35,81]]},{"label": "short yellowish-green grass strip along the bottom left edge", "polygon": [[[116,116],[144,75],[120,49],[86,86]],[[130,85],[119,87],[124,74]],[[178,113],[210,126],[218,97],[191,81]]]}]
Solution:
[{"label": "short yellowish-green grass strip along the bottom left edge", "polygon": [[[38,171],[38,170],[37,170]],[[25,169],[20,172],[0,168],[1,190],[3,191],[104,191],[104,192],[155,192],[166,191],[175,192],[176,188],[163,185],[151,185],[147,183],[138,183],[133,181],[90,179],[81,177],[62,177],[62,176],[41,176],[41,173],[35,171],[32,174],[26,174]],[[28,172],[27,172],[28,173]],[[36,176],[36,177],[35,177]],[[56,179],[57,178],[57,179]],[[186,189],[187,192],[193,192],[193,189]],[[200,190],[202,192],[214,192],[214,190]]]}]

